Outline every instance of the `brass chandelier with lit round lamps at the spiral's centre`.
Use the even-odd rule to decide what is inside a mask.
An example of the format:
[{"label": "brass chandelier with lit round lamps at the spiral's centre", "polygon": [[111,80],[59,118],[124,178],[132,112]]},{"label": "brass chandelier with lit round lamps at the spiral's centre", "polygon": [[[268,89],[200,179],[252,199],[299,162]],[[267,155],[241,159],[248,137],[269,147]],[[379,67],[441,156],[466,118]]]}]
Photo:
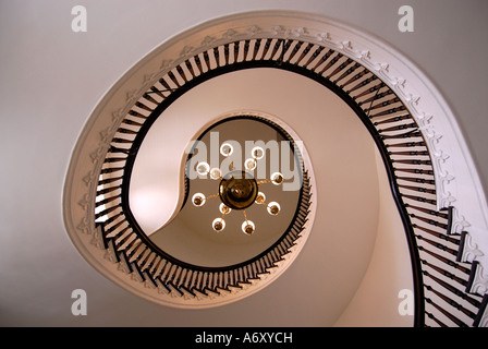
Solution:
[{"label": "brass chandelier with lit round lamps at the spiral's centre", "polygon": [[[223,143],[220,146],[220,154],[230,157],[233,153],[233,146],[230,143]],[[244,221],[241,226],[242,231],[252,236],[256,231],[256,225],[247,218],[246,208],[254,204],[266,206],[271,216],[280,213],[281,206],[278,202],[266,202],[266,195],[259,191],[259,186],[266,183],[281,185],[283,174],[273,172],[269,179],[257,181],[253,176],[253,171],[257,168],[257,160],[265,156],[265,151],[260,146],[256,146],[251,151],[251,158],[244,161],[244,169],[234,169],[233,163],[230,161],[230,171],[222,176],[220,168],[210,168],[210,166],[200,161],[196,166],[196,171],[200,176],[209,176],[212,180],[220,181],[218,193],[206,196],[203,193],[196,193],[192,196],[193,205],[202,207],[208,200],[219,197],[221,203],[219,210],[221,216],[213,219],[211,227],[215,231],[222,231],[225,228],[224,217],[232,210],[242,210]]]}]

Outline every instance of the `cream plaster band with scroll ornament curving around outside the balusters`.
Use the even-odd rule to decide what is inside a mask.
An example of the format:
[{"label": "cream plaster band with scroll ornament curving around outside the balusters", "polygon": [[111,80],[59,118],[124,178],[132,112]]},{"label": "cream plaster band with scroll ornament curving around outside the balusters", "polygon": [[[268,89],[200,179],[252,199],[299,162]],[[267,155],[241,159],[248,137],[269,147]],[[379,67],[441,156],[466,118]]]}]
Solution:
[{"label": "cream plaster band with scroll ornament curving around outside the balusters", "polygon": [[[456,207],[455,224],[453,225],[456,232],[465,227],[479,227],[466,239],[463,261],[479,261],[481,265],[476,274],[473,289],[477,292],[486,292],[487,278],[481,270],[483,265],[488,265],[488,262],[480,258],[485,255],[481,251],[488,251],[486,200],[483,194],[466,198],[466,193],[460,190],[467,185],[474,188],[475,191],[481,191],[481,186],[468,153],[466,157],[467,147],[459,128],[455,125],[455,119],[440,94],[427,83],[426,76],[406,58],[378,39],[321,16],[282,11],[263,11],[225,16],[206,22],[176,35],[141,60],[108,92],[94,110],[80,137],[65,183],[65,225],[74,244],[85,258],[114,282],[151,301],[161,303],[160,297],[170,294],[162,303],[173,306],[220,305],[260,289],[259,282],[243,285],[242,288],[233,288],[224,297],[219,297],[219,299],[222,299],[220,302],[212,302],[215,300],[211,299],[210,294],[202,296],[196,292],[196,296],[181,294],[178,297],[178,292],[169,292],[160,284],[157,287],[150,285],[147,287],[147,282],[138,285],[143,279],[137,276],[136,280],[133,280],[136,274],[129,274],[130,266],[126,261],[122,260],[120,263],[113,263],[115,255],[110,248],[108,252],[100,251],[102,241],[98,229],[95,229],[94,226],[93,208],[98,181],[97,176],[110,146],[110,140],[133,104],[158,79],[190,57],[215,46],[241,39],[265,37],[301,38],[305,41],[330,47],[377,74],[402,99],[419,124],[419,131],[424,134],[432,156],[438,208]],[[446,145],[450,145],[449,148],[454,148],[455,152],[446,149]],[[465,156],[462,157],[462,154]],[[87,172],[87,169],[90,170]],[[461,171],[461,169],[467,170]],[[471,201],[471,203],[465,207],[467,201]],[[76,204],[72,205],[73,202]],[[471,214],[473,206],[476,207],[475,214]],[[292,254],[300,251],[302,245],[295,246],[295,251],[292,249]],[[93,248],[96,248],[99,252],[94,252]],[[103,261],[107,263],[102,263]],[[290,258],[285,258],[283,267],[286,267],[291,262]],[[263,278],[263,280],[266,280],[266,285],[279,275],[278,269],[280,267],[272,268],[270,274]],[[171,299],[175,294],[176,298],[184,299],[184,302],[182,303],[181,300],[172,301]]]}]

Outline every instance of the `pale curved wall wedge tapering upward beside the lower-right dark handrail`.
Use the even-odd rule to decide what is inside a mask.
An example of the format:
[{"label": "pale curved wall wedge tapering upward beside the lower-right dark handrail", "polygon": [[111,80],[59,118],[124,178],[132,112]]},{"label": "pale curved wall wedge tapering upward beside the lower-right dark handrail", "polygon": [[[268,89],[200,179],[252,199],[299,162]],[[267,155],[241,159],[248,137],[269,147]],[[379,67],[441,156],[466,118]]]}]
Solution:
[{"label": "pale curved wall wedge tapering upward beside the lower-right dark handrail", "polygon": [[[408,263],[406,237],[378,152],[376,163],[380,212],[375,250],[356,294],[334,324],[337,327],[411,327],[414,323],[413,315],[399,312],[400,303],[406,300],[403,293],[399,298],[400,292],[407,290],[408,294],[413,296],[412,265]],[[413,300],[413,297],[410,299]]]}]

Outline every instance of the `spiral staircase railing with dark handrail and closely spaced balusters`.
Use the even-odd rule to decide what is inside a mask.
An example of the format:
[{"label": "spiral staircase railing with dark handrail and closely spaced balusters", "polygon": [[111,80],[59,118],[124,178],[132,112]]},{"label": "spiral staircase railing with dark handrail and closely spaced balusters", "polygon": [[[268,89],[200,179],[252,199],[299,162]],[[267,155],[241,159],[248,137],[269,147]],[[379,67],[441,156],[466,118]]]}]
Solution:
[{"label": "spiral staircase railing with dark handrail and closely spaced balusters", "polygon": [[307,219],[307,176],[296,226],[259,258],[228,269],[202,269],[172,260],[144,238],[127,206],[131,161],[156,118],[199,83],[249,68],[283,69],[313,79],[356,112],[381,154],[403,221],[414,276],[415,325],[477,326],[487,297],[469,292],[476,264],[460,262],[463,234],[452,232],[452,207],[437,209],[432,160],[416,120],[393,89],[359,62],[300,39],[229,41],[185,59],[147,89],[123,119],[100,172],[96,221],[106,248],[142,279],[186,297],[240,287],[289,252]]}]

